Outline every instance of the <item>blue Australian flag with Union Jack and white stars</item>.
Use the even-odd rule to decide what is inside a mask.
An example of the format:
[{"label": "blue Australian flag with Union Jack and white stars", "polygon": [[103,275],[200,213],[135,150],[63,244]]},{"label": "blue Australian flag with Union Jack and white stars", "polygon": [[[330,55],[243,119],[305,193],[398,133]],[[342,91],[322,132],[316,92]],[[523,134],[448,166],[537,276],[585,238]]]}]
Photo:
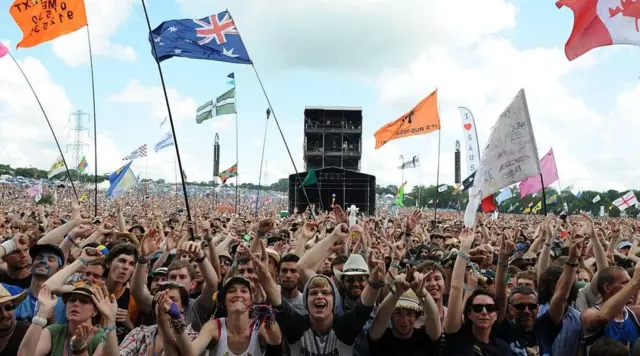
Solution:
[{"label": "blue Australian flag with Union Jack and white stars", "polygon": [[202,19],[165,21],[151,31],[149,42],[151,54],[159,62],[171,57],[186,57],[251,64],[229,11]]}]

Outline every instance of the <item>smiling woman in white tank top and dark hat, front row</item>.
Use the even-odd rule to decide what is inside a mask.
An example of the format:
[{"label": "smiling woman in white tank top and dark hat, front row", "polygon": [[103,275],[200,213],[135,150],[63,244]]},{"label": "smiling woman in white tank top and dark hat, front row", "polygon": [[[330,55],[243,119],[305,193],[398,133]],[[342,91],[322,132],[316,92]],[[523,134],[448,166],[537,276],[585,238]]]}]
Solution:
[{"label": "smiling woman in white tank top and dark hat, front row", "polygon": [[209,353],[210,356],[258,356],[265,354],[267,345],[280,345],[282,334],[277,323],[267,321],[268,328],[267,323],[260,323],[259,326],[251,323],[251,288],[252,284],[248,279],[228,279],[218,295],[220,306],[226,309],[227,317],[209,320],[202,326],[193,343],[184,328],[171,324],[182,355],[200,355],[210,343],[216,345]]}]

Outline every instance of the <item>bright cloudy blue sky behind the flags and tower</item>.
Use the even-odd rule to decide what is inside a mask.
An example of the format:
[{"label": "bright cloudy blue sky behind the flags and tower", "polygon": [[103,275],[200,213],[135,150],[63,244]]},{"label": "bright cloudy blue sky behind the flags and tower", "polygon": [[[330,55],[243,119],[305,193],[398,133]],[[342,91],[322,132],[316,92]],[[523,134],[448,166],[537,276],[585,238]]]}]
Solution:
[{"label": "bright cloudy blue sky behind the flags and tower", "polygon": [[[615,3],[616,1],[608,0]],[[87,29],[33,48],[15,49],[22,33],[0,11],[0,41],[11,48],[43,103],[65,157],[73,113],[88,113],[83,154],[110,173],[142,144],[149,156],[136,175],[176,180],[175,151],[152,147],[167,132],[157,66],[140,1],[85,0],[95,72],[93,115]],[[619,2],[618,2],[619,3]],[[8,8],[8,6],[7,6]],[[363,109],[361,171],[377,184],[399,185],[400,156],[419,155],[404,172],[407,186],[453,184],[455,141],[462,142],[459,106],[473,113],[480,147],[520,88],[527,95],[540,157],[554,150],[562,187],[639,189],[640,50],[613,46],[569,62],[564,44],[573,13],[533,0],[148,0],[151,26],[202,18],[229,9],[274,114],[249,65],[186,58],[162,62],[176,137],[189,181],[212,179],[213,137],[220,135],[220,169],[233,165],[236,118],[198,125],[196,108],[230,88],[235,73],[239,135],[238,182],[257,183],[265,126],[263,183],[294,172],[273,120],[277,117],[298,171],[304,171],[305,106]],[[375,150],[374,132],[438,89],[442,130],[392,141]],[[438,142],[440,136],[440,150]],[[0,163],[48,169],[59,155],[26,81],[9,56],[0,59]],[[466,162],[462,162],[463,178]]]}]

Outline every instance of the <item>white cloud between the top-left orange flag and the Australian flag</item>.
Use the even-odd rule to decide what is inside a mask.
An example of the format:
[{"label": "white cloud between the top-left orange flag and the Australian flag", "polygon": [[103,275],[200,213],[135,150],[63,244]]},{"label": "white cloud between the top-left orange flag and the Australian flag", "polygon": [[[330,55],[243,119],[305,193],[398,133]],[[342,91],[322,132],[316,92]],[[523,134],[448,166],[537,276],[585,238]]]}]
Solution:
[{"label": "white cloud between the top-left orange flag and the Australian flag", "polygon": [[[132,47],[113,43],[111,37],[125,24],[135,0],[85,0],[87,20],[91,33],[91,50],[94,56],[133,61],[136,52]],[[89,63],[87,29],[53,40],[53,53],[70,66]]]}]

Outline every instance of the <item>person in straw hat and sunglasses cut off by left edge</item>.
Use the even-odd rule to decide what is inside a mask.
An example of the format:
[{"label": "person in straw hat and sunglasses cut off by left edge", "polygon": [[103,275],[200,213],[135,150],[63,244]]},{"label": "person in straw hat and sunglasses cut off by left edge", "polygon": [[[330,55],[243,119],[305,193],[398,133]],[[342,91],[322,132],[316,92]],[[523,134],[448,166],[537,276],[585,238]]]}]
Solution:
[{"label": "person in straw hat and sunglasses cut off by left edge", "polygon": [[11,295],[0,284],[0,355],[16,356],[22,340],[29,329],[25,321],[16,321],[13,311],[27,297],[27,291]]}]

